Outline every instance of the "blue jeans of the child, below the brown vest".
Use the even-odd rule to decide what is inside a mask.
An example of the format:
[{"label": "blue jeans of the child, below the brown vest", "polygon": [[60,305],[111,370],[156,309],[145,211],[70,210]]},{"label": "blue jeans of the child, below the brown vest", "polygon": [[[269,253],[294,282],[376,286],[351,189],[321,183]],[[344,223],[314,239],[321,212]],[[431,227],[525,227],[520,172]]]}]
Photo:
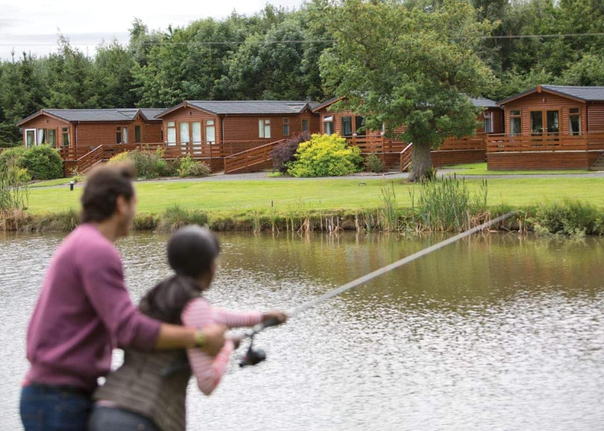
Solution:
[{"label": "blue jeans of the child, below the brown vest", "polygon": [[155,423],[129,410],[95,406],[88,431],[159,431]]}]

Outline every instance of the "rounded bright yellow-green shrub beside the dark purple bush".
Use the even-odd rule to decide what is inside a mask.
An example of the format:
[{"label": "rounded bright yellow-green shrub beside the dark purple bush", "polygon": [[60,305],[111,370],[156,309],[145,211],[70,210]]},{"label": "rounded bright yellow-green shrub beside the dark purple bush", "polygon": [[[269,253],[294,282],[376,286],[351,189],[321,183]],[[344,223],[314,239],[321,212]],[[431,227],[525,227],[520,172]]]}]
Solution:
[{"label": "rounded bright yellow-green shrub beside the dark purple bush", "polygon": [[342,176],[361,170],[361,149],[337,135],[312,135],[298,146],[288,173],[295,177]]}]

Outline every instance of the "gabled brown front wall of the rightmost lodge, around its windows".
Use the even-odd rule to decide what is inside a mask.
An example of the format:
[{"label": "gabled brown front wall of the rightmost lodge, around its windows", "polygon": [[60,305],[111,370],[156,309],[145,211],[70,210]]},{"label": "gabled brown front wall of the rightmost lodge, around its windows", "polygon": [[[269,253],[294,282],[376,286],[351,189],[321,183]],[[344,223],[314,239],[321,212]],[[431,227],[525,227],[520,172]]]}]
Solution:
[{"label": "gabled brown front wall of the rightmost lodge, around its windows", "polygon": [[530,135],[530,112],[541,110],[558,110],[559,127],[561,135],[568,135],[570,129],[568,126],[568,109],[579,108],[581,115],[581,131],[585,132],[587,128],[587,111],[585,103],[572,98],[562,97],[548,92],[527,94],[524,97],[512,100],[504,105],[505,109],[505,133],[510,131],[510,111],[520,110],[522,135]]}]

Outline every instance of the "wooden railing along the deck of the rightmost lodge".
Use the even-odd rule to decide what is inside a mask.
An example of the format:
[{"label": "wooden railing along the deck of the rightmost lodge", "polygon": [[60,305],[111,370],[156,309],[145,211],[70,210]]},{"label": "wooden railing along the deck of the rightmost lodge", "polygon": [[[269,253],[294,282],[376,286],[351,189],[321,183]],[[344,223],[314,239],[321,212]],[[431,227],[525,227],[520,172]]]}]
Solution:
[{"label": "wooden railing along the deck of the rightmost lodge", "polygon": [[488,135],[487,152],[556,152],[604,150],[604,133],[590,132],[582,135]]}]

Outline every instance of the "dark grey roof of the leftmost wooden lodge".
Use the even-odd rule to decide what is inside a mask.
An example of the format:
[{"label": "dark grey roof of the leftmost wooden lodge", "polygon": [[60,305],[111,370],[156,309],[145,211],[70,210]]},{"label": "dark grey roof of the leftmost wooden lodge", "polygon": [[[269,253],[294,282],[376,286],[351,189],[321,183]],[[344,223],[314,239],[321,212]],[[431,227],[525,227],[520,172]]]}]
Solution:
[{"label": "dark grey roof of the leftmost wooden lodge", "polygon": [[[117,108],[117,109],[42,109],[19,121],[17,126],[44,113],[65,121],[132,121],[141,112],[147,120],[156,120],[164,109]],[[159,120],[159,118],[157,119]]]}]

